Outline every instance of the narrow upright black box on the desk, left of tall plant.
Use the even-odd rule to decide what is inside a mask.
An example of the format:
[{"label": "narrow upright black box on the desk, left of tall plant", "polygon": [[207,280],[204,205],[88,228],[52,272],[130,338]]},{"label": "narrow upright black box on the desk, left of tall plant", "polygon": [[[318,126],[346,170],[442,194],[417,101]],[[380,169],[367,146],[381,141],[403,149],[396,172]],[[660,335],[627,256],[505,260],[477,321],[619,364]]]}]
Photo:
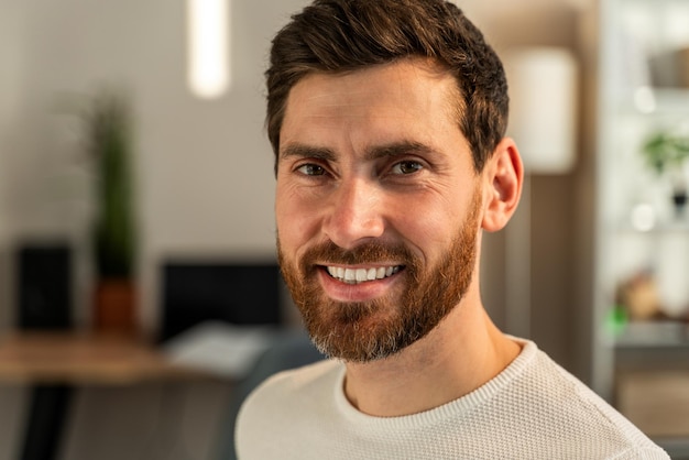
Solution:
[{"label": "narrow upright black box on the desk, left of tall plant", "polygon": [[20,329],[72,327],[72,250],[67,244],[26,244],[17,254]]}]

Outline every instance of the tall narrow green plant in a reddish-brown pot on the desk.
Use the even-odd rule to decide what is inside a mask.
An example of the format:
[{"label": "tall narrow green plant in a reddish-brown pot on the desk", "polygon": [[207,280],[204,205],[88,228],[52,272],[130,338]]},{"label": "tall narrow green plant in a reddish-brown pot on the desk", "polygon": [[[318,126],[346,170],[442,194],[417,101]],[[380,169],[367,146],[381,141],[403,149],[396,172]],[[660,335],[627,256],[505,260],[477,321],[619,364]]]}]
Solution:
[{"label": "tall narrow green plant in a reddish-brown pot on the desk", "polygon": [[95,328],[135,333],[136,221],[132,171],[132,114],[124,94],[102,90],[86,113],[94,161],[96,216],[92,227]]}]

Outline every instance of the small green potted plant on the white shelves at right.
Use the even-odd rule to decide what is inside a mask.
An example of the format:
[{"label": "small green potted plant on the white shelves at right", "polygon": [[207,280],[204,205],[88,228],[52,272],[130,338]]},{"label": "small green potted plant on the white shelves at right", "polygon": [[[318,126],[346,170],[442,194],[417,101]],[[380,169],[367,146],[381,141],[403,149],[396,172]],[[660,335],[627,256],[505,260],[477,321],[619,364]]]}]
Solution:
[{"label": "small green potted plant on the white shelves at right", "polygon": [[642,153],[657,175],[669,177],[675,210],[682,215],[688,197],[683,164],[689,157],[689,136],[657,131],[644,142]]}]

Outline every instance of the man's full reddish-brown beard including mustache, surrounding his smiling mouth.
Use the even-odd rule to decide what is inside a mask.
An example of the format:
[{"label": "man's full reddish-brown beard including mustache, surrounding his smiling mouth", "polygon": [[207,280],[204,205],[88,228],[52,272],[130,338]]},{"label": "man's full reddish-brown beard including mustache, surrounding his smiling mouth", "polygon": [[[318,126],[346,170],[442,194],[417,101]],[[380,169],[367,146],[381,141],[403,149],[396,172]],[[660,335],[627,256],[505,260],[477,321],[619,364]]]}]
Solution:
[{"label": "man's full reddish-brown beard including mustache, surrounding his smiling mouth", "polygon": [[[289,261],[280,237],[277,255],[285,283],[318,350],[331,358],[370,362],[387,358],[430,332],[460,303],[473,276],[477,258],[480,194],[474,193],[466,221],[444,256],[433,266],[404,244],[371,242],[343,250],[328,241],[310,248],[300,261]],[[370,302],[329,298],[318,281],[321,264],[381,264],[403,270],[402,293]],[[324,262],[324,261],[327,261]]]}]

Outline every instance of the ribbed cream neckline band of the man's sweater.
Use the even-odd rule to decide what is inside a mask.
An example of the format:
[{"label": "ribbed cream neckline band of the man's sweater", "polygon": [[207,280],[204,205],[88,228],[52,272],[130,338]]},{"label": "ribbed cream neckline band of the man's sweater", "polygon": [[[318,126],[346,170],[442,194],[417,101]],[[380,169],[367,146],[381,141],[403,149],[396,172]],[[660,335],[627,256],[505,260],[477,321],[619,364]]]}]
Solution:
[{"label": "ribbed cream neckline band of the man's sweater", "polygon": [[524,372],[529,368],[529,363],[535,359],[538,352],[538,347],[535,342],[515,337],[510,338],[522,347],[522,351],[500,374],[495,375],[493,379],[485,382],[474,391],[457,399],[450,401],[441,406],[411,415],[376,417],[357,409],[344,395],[346,366],[341,365],[333,385],[337,410],[342,417],[349,419],[351,423],[370,429],[418,429],[419,427],[433,425],[439,420],[447,419],[450,416],[461,417],[464,414],[471,413],[475,407],[484,404],[497,393],[502,392],[510,385],[511,382],[524,374]]}]

